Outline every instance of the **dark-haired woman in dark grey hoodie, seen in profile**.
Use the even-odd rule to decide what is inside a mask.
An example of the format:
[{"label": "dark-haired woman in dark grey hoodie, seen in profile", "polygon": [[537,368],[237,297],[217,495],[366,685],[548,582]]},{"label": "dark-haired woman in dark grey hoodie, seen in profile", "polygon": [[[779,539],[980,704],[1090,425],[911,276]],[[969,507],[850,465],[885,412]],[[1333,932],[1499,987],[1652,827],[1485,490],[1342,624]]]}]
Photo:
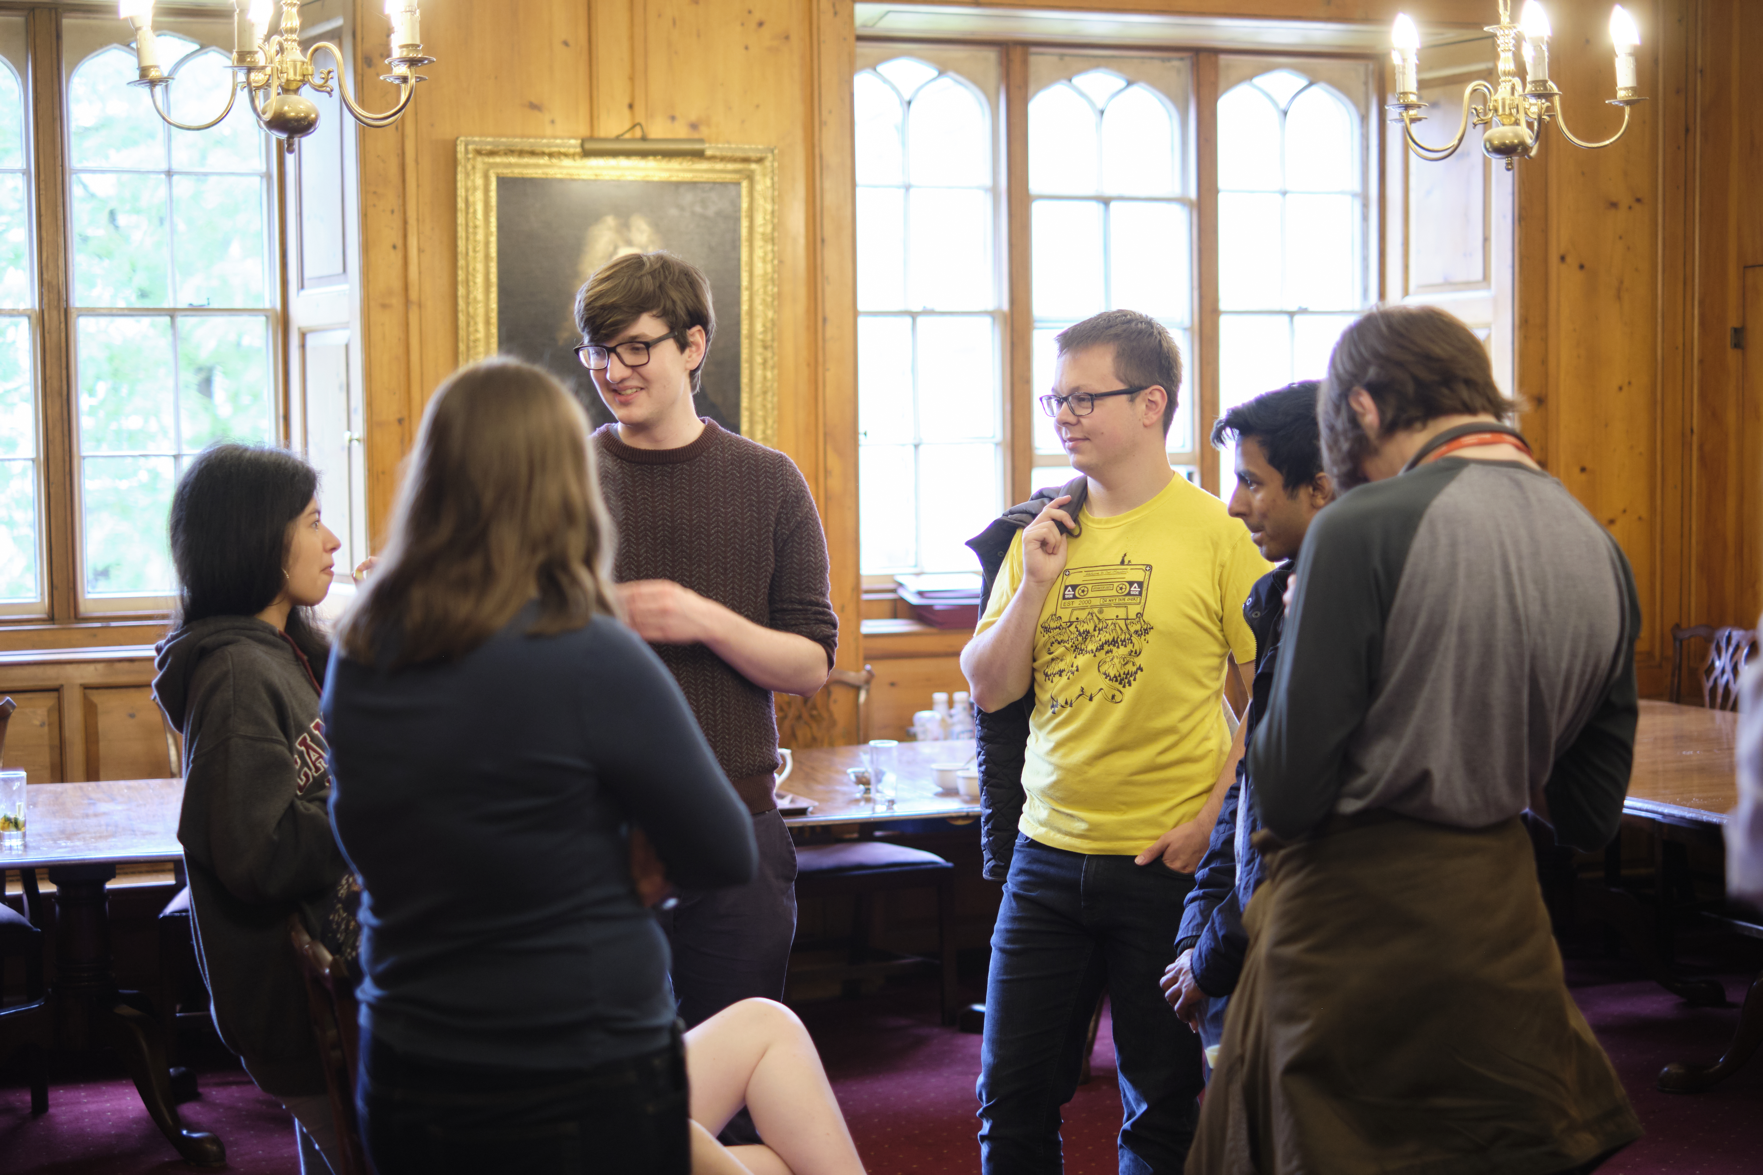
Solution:
[{"label": "dark-haired woman in dark grey hoodie, seen in profile", "polygon": [[153,678],[183,731],[178,840],[215,1027],[293,1113],[305,1175],[326,1171],[337,1131],[287,916],[317,934],[351,888],[326,807],[330,650],[309,613],[340,543],[316,495],[284,449],[220,444],[190,463],[169,521],[178,618]]}]

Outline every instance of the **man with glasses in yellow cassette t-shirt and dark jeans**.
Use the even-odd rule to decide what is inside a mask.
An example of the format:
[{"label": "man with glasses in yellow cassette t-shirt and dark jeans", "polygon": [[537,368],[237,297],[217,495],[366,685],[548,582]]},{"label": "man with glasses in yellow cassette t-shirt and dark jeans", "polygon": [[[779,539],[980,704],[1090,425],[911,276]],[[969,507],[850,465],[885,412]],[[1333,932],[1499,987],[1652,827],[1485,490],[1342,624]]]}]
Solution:
[{"label": "man with glasses in yellow cassette t-shirt and dark jeans", "polygon": [[1042,407],[1084,474],[1082,502],[1053,499],[1010,543],[961,654],[982,710],[1033,691],[1026,800],[986,990],[980,1164],[986,1175],[1061,1170],[1060,1106],[1107,990],[1121,1175],[1172,1175],[1202,1080],[1199,1038],[1158,978],[1241,757],[1222,689],[1231,661],[1252,671],[1243,601],[1269,564],[1224,502],[1169,467],[1181,386],[1169,331],[1111,310],[1058,345]]}]

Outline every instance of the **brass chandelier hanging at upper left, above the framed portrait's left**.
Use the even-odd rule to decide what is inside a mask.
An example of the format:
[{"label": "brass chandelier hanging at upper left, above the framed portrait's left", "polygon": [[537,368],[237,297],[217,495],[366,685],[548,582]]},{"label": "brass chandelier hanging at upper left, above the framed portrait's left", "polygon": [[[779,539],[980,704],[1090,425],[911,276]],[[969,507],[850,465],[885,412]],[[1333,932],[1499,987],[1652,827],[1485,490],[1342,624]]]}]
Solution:
[{"label": "brass chandelier hanging at upper left, above the framed portrait's left", "polygon": [[[236,78],[227,90],[226,109],[205,123],[182,123],[160,106],[160,90],[171,85],[159,67],[159,46],[153,39],[153,0],[120,0],[116,14],[134,25],[134,58],[139,78],[129,85],[146,86],[153,99],[153,111],[178,130],[208,130],[220,125],[233,113],[233,102],[240,90],[247,92],[252,115],[257,123],[282,139],[287,150],[294,143],[312,134],[319,125],[319,107],[312,99],[301,95],[305,86],[319,93],[335,93],[344,107],[363,127],[390,127],[411,104],[418,81],[428,81],[421,74],[411,72],[418,65],[428,65],[432,56],[423,56],[421,35],[418,33],[418,0],[386,0],[386,16],[391,18],[391,55],[386,65],[390,74],[381,81],[390,81],[402,88],[398,102],[384,113],[365,111],[349,97],[346,85],[335,85],[337,70],[342,69],[342,49],[330,41],[321,41],[310,51],[300,48],[300,0],[280,0],[282,18],[272,32],[270,21],[275,12],[275,0],[233,0],[233,65]],[[312,62],[319,49],[331,55],[337,69],[314,69]]]}]

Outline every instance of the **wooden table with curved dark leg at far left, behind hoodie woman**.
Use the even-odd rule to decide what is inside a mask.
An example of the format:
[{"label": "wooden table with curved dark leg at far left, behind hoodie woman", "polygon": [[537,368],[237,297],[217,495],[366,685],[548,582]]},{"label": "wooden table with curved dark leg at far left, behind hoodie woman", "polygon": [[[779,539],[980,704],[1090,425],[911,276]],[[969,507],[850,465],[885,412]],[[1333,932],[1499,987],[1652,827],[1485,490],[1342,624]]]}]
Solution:
[{"label": "wooden table with curved dark leg at far left, behind hoodie woman", "polygon": [[226,1164],[220,1138],[185,1129],[178,1117],[159,1020],[125,997],[111,972],[109,883],[118,865],[182,860],[182,779],[33,784],[26,791],[25,846],[0,849],[0,870],[49,874],[55,983],[41,1008],[0,1020],[0,1034],[48,1038],[58,1048],[109,1046],[178,1154],[217,1168]]}]

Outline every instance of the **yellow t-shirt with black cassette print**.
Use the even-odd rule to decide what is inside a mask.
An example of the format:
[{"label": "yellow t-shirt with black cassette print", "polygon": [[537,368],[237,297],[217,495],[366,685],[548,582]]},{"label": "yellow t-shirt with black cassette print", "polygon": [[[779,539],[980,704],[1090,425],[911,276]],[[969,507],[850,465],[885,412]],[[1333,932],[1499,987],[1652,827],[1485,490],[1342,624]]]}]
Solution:
[{"label": "yellow t-shirt with black cassette print", "polygon": [[[1192,819],[1231,750],[1227,655],[1271,567],[1224,502],[1183,477],[1125,514],[1079,514],[1035,629],[1035,710],[1019,828],[1074,853],[1135,854]],[[1010,544],[978,631],[1023,583]]]}]

